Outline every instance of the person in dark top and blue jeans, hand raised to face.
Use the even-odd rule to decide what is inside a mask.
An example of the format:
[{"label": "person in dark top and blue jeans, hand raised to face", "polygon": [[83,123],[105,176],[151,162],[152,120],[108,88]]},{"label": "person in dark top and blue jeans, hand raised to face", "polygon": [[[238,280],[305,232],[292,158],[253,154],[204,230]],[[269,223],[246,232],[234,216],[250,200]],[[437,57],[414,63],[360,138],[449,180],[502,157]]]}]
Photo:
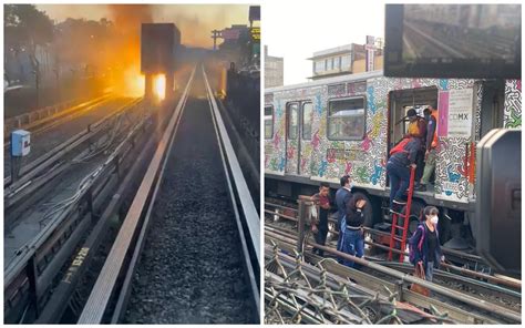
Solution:
[{"label": "person in dark top and blue jeans, hand raised to face", "polygon": [[[357,257],[364,255],[364,213],[363,207],[367,205],[364,199],[358,199],[354,195],[350,196],[347,202],[346,216],[341,219],[340,238],[338,250]],[[339,258],[339,263],[349,267],[358,268],[353,260]]]}]

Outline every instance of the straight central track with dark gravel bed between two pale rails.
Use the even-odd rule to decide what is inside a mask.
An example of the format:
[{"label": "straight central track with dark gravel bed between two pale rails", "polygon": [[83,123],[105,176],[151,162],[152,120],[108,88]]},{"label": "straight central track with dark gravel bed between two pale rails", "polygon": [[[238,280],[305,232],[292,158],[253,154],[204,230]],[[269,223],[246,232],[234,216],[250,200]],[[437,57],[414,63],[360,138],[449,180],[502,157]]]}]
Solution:
[{"label": "straight central track with dark gravel bed between two pale rails", "polygon": [[258,322],[259,217],[195,69],[78,324]]}]

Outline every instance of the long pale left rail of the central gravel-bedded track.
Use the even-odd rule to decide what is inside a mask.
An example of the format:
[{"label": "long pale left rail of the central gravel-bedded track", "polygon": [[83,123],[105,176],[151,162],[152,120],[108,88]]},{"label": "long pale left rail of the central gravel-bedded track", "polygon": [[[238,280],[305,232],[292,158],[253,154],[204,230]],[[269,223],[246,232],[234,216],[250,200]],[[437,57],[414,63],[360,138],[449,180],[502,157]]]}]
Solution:
[{"label": "long pale left rail of the central gravel-bedded track", "polygon": [[[189,76],[186,89],[178,102],[176,112],[181,112],[184,99],[187,98],[189,86],[193,82],[195,74],[195,68]],[[80,315],[78,324],[100,324],[102,317],[106,310],[107,303],[110,297],[114,291],[119,274],[123,268],[124,258],[126,257],[133,235],[135,235],[136,227],[141,219],[143,209],[146,202],[150,199],[151,192],[153,191],[154,183],[159,177],[159,168],[165,158],[166,150],[172,139],[173,132],[176,127],[177,115],[173,115],[169,120],[169,124],[164,132],[161,142],[155,151],[155,154],[147,167],[146,174],[138,187],[138,191],[132,202],[132,205],[126,214],[124,223],[121,226],[119,235],[110,250],[110,254],[106,257],[104,266],[96,279],[93,289],[91,290],[90,297]]]}]

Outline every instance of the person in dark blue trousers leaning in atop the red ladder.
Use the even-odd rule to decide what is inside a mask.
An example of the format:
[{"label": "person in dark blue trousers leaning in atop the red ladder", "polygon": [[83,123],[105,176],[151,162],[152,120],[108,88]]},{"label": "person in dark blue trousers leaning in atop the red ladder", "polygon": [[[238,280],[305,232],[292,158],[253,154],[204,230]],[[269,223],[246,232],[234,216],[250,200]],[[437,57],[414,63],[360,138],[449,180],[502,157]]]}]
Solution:
[{"label": "person in dark blue trousers leaning in atop the red ladder", "polygon": [[409,135],[390,151],[387,174],[390,178],[390,209],[393,212],[400,212],[406,204],[403,197],[410,184],[410,167],[416,167],[415,160],[421,144],[421,139]]}]

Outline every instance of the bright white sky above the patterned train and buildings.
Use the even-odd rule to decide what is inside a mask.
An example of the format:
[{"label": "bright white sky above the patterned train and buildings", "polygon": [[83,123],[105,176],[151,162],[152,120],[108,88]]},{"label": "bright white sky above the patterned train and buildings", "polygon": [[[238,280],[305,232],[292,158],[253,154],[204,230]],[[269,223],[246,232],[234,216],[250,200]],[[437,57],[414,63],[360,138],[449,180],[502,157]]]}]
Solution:
[{"label": "bright white sky above the patterned train and buildings", "polygon": [[285,84],[306,82],[315,51],[384,37],[384,1],[271,1],[262,7],[262,33],[268,54],[285,58]]}]

